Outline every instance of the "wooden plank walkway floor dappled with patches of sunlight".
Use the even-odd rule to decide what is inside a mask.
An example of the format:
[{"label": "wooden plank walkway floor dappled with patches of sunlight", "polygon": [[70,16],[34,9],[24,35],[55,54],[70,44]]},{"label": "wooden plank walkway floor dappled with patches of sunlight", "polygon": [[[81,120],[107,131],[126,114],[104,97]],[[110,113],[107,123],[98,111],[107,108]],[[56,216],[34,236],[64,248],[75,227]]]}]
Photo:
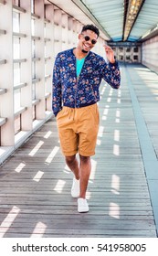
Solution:
[{"label": "wooden plank walkway floor dappled with patches of sunlight", "polygon": [[[149,88],[142,84],[145,69],[140,67],[145,94]],[[128,67],[131,79],[138,69]],[[72,174],[59,150],[55,119],[51,119],[1,166],[0,237],[156,237],[124,67],[121,77],[121,90],[100,88],[100,132],[87,193],[90,212],[79,214],[77,199],[70,196]],[[147,112],[150,101],[142,106],[147,118],[153,108],[151,104]],[[157,123],[148,121],[158,153]]]}]

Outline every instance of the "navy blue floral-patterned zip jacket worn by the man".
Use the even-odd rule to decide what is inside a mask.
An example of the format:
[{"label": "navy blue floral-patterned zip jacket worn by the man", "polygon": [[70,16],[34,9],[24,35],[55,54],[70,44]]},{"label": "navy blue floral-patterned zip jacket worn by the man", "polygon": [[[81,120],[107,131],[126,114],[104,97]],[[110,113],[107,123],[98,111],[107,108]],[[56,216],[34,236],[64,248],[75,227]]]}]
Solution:
[{"label": "navy blue floral-patterned zip jacket worn by the man", "polygon": [[62,106],[81,108],[100,101],[100,82],[105,80],[113,89],[120,87],[121,75],[118,62],[107,64],[94,52],[86,57],[79,78],[73,48],[58,53],[53,69],[53,112]]}]

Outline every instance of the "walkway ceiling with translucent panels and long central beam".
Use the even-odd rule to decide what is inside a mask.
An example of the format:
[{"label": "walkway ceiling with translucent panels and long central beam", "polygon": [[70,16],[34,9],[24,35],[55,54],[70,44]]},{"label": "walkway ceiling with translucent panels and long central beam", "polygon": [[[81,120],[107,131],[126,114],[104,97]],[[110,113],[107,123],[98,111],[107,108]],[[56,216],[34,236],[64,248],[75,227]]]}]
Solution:
[{"label": "walkway ceiling with translucent panels and long central beam", "polygon": [[158,35],[157,0],[47,0],[82,24],[93,23],[105,40],[142,41]]}]

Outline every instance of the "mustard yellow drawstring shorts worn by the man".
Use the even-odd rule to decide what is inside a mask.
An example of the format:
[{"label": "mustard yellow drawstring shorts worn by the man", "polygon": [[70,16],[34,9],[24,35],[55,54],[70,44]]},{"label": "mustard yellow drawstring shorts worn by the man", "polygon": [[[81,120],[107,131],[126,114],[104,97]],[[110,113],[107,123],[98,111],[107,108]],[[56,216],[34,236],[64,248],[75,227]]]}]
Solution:
[{"label": "mustard yellow drawstring shorts worn by the man", "polygon": [[65,156],[95,155],[100,115],[98,105],[79,109],[63,107],[57,115],[60,146]]}]

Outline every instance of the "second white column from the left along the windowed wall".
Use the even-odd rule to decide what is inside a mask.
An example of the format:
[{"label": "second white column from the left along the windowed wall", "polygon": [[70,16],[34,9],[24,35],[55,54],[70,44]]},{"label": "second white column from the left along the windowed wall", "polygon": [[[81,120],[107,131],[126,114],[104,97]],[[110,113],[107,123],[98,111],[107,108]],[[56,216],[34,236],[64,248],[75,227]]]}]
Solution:
[{"label": "second white column from the left along the windowed wall", "polygon": [[21,65],[21,82],[26,82],[26,87],[21,89],[21,106],[26,107],[26,112],[22,113],[22,130],[32,130],[32,39],[31,39],[31,0],[21,0],[21,7],[26,13],[20,15],[20,32],[26,37],[20,39],[21,59],[26,62]]}]

